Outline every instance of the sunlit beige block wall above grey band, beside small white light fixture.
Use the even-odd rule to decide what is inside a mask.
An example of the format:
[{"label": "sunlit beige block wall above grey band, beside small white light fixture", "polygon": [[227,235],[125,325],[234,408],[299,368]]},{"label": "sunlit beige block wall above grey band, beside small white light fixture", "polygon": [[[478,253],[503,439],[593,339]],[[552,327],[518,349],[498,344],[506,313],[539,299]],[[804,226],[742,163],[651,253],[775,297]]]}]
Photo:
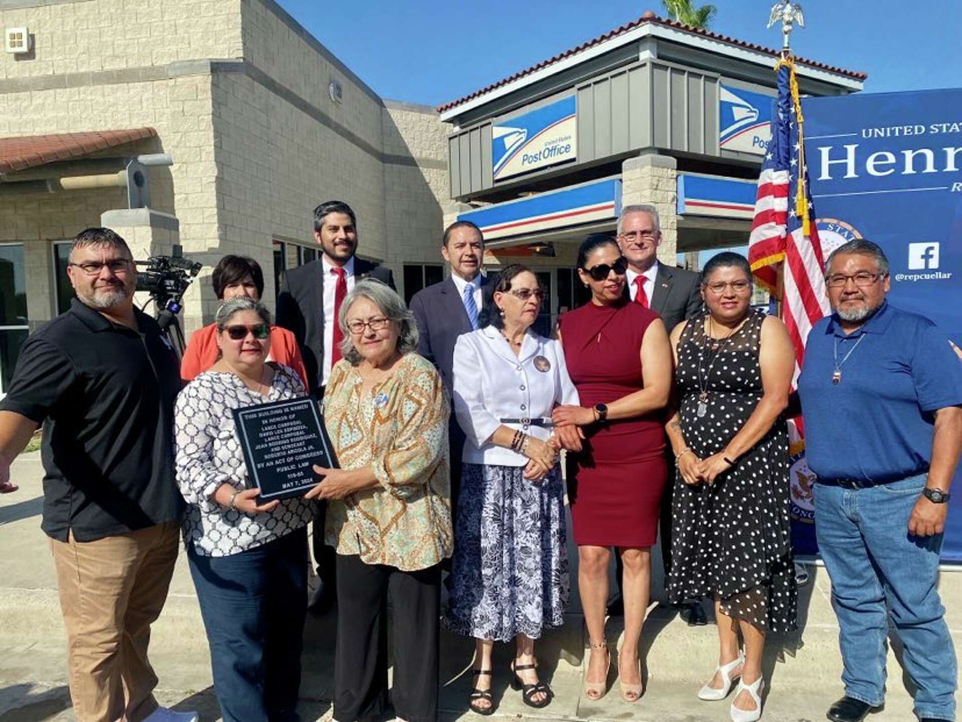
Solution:
[{"label": "sunlit beige block wall above grey band, beside small white light fixture", "polygon": [[0,78],[28,78],[198,58],[241,57],[241,0],[86,0],[0,11],[26,26],[34,59],[0,54]]}]

